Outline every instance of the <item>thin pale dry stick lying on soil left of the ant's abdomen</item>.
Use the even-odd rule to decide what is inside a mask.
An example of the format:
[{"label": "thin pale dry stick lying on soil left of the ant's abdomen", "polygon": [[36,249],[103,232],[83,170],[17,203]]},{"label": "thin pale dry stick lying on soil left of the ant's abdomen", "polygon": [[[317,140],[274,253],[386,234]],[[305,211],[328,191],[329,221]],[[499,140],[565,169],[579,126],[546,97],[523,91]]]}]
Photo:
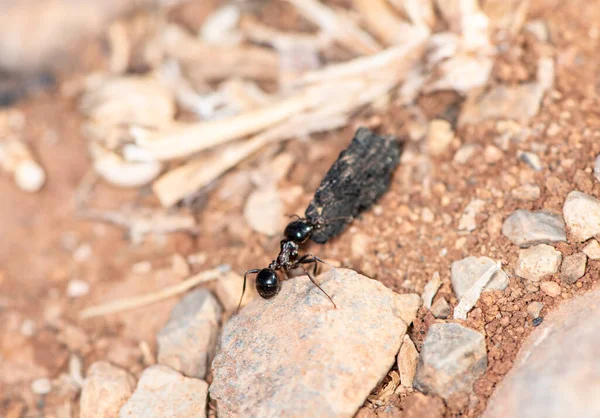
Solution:
[{"label": "thin pale dry stick lying on soil left of the ant's abdomen", "polygon": [[181,283],[177,283],[176,285],[166,287],[156,292],[147,293],[141,296],[133,296],[131,298],[119,299],[103,305],[96,305],[86,308],[79,313],[79,316],[81,319],[88,319],[96,316],[108,315],[151,305],[153,303],[160,302],[161,300],[184,293],[200,283],[216,280],[223,274],[223,269],[218,268],[203,271],[202,273],[198,273]]}]

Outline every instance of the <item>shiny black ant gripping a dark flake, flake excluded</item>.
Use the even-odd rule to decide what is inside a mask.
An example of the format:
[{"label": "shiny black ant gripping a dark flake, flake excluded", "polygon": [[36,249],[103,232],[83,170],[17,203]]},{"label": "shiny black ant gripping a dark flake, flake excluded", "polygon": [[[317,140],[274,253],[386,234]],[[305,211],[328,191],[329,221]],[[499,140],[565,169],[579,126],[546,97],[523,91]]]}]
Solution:
[{"label": "shiny black ant gripping a dark flake, flake excluded", "polygon": [[[304,254],[303,256],[299,256],[298,254],[299,244],[305,243],[311,237],[313,232],[319,230],[327,223],[327,221],[319,219],[316,222],[311,222],[306,218],[299,217],[298,215],[293,216],[296,216],[297,219],[290,222],[285,227],[285,230],[283,231],[285,239],[281,240],[280,242],[279,255],[277,258],[273,260],[267,268],[251,269],[244,273],[244,285],[242,288],[242,297],[240,298],[240,303],[238,305],[238,311],[242,305],[244,293],[246,292],[246,280],[248,274],[257,273],[256,291],[263,299],[271,299],[281,290],[281,279],[277,275],[277,272],[282,271],[285,277],[288,278],[287,273],[290,270],[294,270],[298,267],[304,270],[304,273],[306,273],[310,281],[313,282],[313,284],[317,286],[317,288],[323,292],[325,296],[327,296],[329,301],[333,304],[333,307],[337,309],[337,305],[331,296],[329,296],[327,292],[325,292],[323,288],[319,286],[314,277],[303,266],[303,264],[314,263],[313,274],[316,274],[317,263],[328,263],[313,254]],[[331,219],[331,221],[340,219],[348,220],[351,218],[335,218]]]}]

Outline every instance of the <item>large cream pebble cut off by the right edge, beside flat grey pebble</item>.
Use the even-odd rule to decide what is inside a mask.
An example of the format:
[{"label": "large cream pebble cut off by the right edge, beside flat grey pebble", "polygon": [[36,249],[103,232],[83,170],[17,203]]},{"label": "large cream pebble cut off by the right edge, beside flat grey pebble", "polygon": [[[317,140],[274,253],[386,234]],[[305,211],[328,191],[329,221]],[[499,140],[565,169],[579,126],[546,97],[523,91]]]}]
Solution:
[{"label": "large cream pebble cut off by the right edge, beside flat grey pebble", "polygon": [[600,200],[573,191],[563,206],[563,216],[569,232],[577,242],[583,242],[600,234]]}]

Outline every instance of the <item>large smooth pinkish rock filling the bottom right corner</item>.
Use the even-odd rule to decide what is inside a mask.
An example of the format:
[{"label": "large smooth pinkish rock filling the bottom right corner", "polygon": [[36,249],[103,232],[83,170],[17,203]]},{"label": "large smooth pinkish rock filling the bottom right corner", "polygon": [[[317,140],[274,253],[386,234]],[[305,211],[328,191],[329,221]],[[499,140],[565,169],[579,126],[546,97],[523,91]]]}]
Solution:
[{"label": "large smooth pinkish rock filling the bottom right corner", "polygon": [[484,418],[600,416],[600,289],[545,317],[524,342]]}]

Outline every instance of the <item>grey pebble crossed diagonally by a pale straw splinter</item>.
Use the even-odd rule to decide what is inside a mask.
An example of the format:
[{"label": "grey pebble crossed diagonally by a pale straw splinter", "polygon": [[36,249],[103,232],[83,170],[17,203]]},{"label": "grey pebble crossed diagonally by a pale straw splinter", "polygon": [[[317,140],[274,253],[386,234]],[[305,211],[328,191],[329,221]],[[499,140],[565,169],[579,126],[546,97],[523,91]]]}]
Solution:
[{"label": "grey pebble crossed diagonally by a pale straw splinter", "polygon": [[[496,262],[488,257],[469,256],[452,263],[451,280],[452,289],[460,300],[475,282]],[[508,276],[502,270],[497,271],[484,291],[504,290],[508,286]]]}]

